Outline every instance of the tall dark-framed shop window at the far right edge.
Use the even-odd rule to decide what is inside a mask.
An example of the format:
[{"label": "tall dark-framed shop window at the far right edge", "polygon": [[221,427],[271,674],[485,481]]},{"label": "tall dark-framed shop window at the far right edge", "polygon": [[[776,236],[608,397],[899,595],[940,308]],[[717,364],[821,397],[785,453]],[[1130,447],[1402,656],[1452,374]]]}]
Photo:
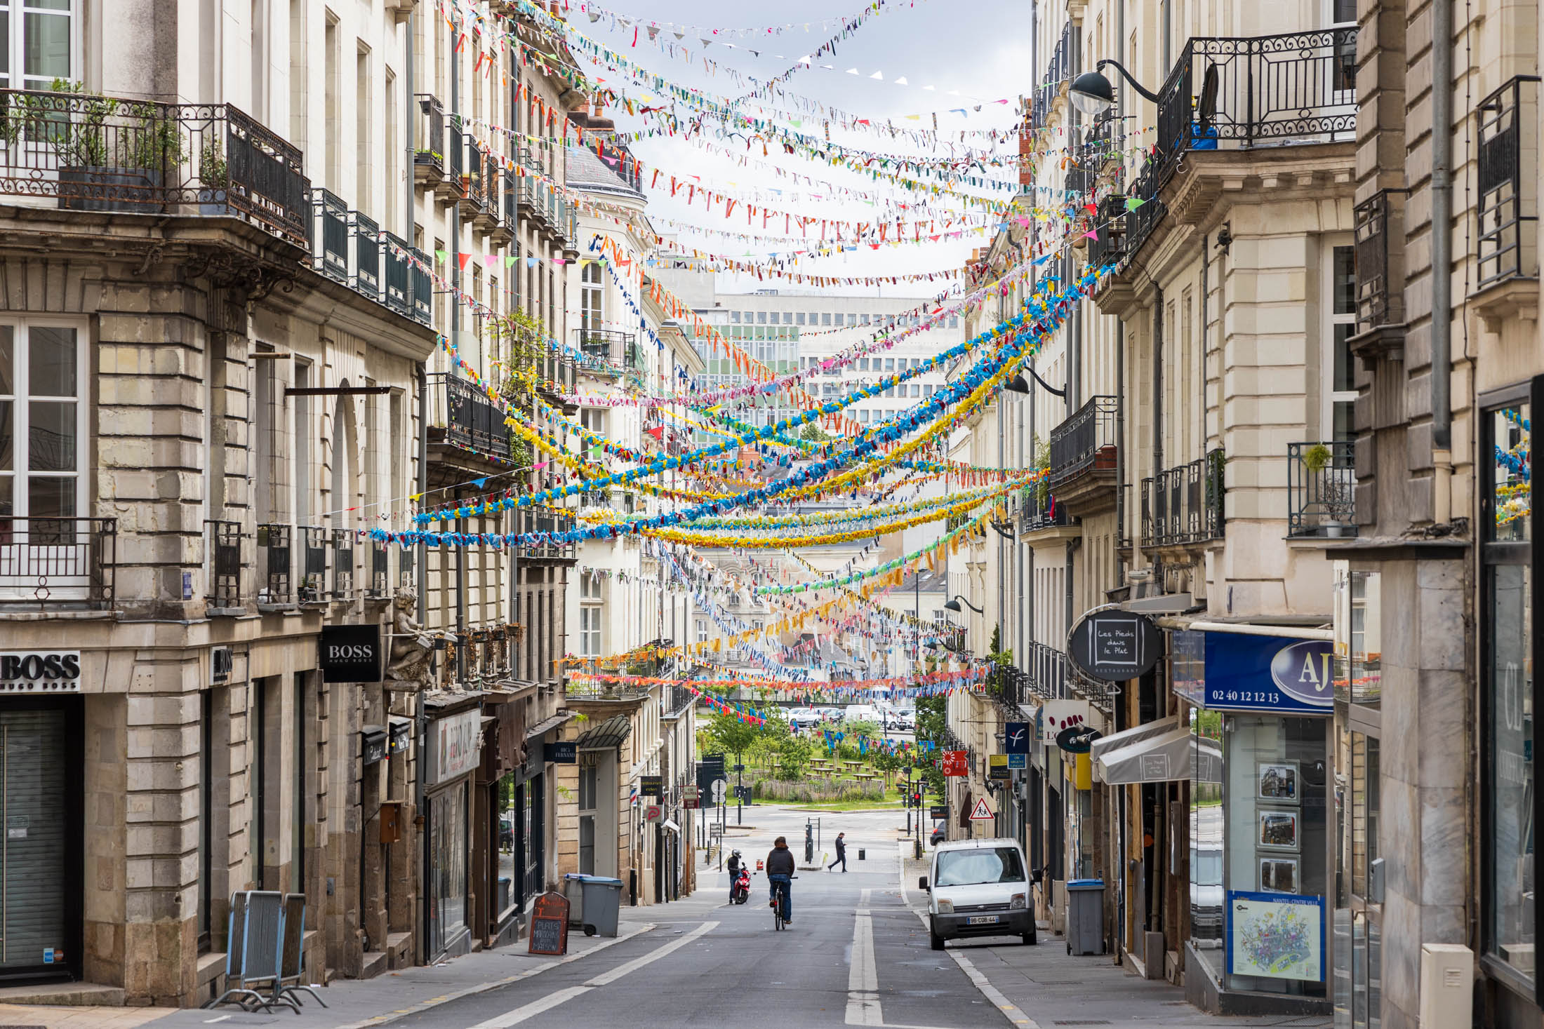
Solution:
[{"label": "tall dark-framed shop window at the far right edge", "polygon": [[1533,663],[1529,404],[1487,412],[1484,504],[1485,953],[1533,978]]}]

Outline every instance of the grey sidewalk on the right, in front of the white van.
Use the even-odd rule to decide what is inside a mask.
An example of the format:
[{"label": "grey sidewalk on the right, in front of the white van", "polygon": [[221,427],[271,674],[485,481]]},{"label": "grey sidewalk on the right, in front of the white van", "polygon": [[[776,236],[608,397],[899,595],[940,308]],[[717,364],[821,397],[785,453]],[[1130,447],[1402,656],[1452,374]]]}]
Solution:
[{"label": "grey sidewalk on the right, in front of the white van", "polygon": [[[928,873],[926,861],[911,858],[902,865],[902,896],[913,910],[926,912],[926,895],[917,878]],[[1210,1029],[1214,1026],[1329,1026],[1329,1015],[1215,1017],[1192,1007],[1184,990],[1169,983],[1138,978],[1109,956],[1070,956],[1065,938],[1039,926],[1039,946],[950,941],[948,956],[960,966],[1008,1021],[1024,1029],[1036,1026],[1110,1026],[1112,1029]]]}]

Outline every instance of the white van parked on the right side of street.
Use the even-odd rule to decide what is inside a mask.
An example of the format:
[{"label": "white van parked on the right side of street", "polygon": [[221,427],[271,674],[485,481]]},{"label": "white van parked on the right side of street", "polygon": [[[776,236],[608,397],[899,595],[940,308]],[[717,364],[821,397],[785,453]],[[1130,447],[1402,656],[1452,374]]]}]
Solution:
[{"label": "white van parked on the right side of street", "polygon": [[934,950],[962,936],[1017,936],[1034,943],[1030,873],[1014,839],[956,839],[933,850],[928,929]]}]

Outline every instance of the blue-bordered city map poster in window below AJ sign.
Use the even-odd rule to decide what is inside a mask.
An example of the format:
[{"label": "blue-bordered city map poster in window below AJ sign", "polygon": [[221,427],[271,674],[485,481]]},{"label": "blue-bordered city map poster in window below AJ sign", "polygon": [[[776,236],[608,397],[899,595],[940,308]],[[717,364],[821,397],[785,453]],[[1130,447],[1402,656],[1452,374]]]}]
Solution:
[{"label": "blue-bordered city map poster in window below AJ sign", "polygon": [[1227,893],[1227,973],[1325,978],[1325,898]]}]

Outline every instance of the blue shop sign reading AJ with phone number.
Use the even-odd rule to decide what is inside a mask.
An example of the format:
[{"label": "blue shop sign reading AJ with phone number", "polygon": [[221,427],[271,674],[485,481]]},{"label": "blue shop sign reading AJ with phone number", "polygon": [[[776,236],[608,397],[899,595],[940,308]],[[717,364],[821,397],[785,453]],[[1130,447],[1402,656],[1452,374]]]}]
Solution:
[{"label": "blue shop sign reading AJ with phone number", "polygon": [[1175,633],[1175,693],[1209,711],[1328,714],[1334,656],[1328,640],[1243,633]]}]

